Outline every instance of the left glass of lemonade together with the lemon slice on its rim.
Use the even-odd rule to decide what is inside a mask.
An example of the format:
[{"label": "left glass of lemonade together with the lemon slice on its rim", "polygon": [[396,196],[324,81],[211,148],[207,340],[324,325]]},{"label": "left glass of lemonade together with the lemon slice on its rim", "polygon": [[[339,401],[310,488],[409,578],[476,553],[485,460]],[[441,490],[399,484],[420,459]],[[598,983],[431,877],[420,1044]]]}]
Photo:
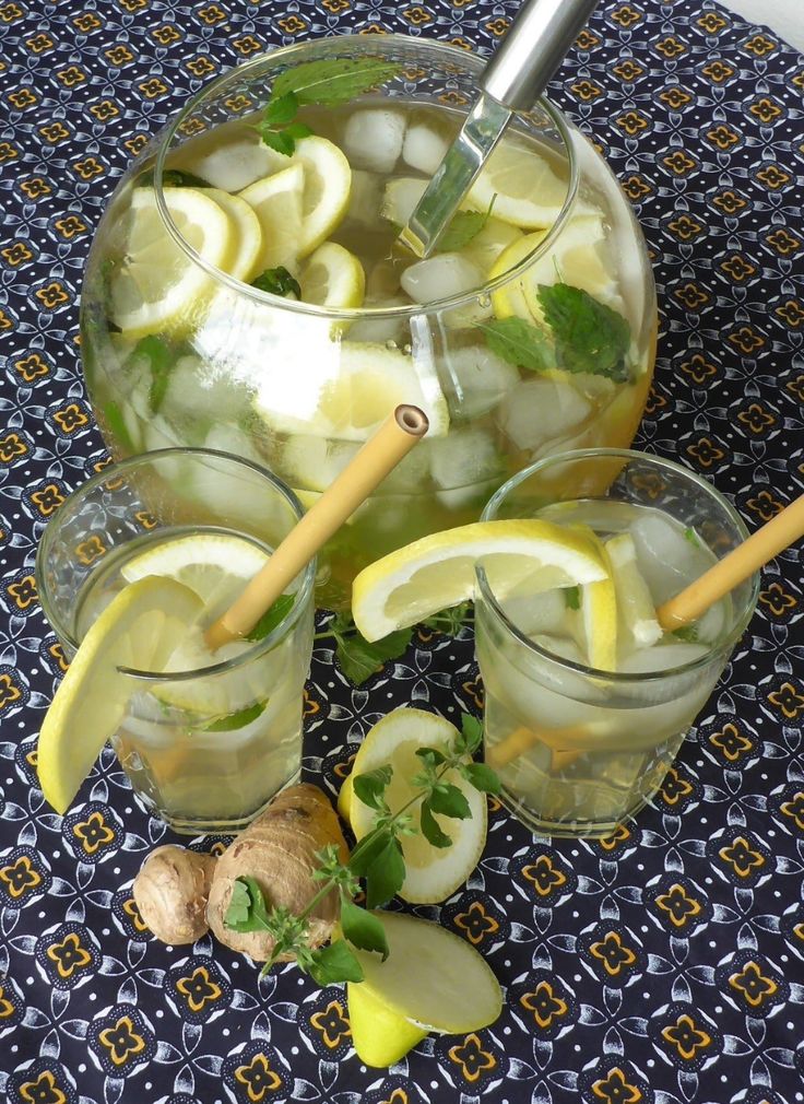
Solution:
[{"label": "left glass of lemonade together with the lemon slice on its rim", "polygon": [[[258,514],[274,501],[287,528],[297,519],[298,503],[265,473],[180,458],[185,470],[225,476]],[[140,799],[174,830],[237,831],[301,766],[314,563],[248,638],[212,654],[205,628],[271,543],[249,532],[235,501],[218,524],[211,503],[193,519],[168,490],[175,465],[175,454],[154,453],[106,469],[45,531],[43,607],[74,661],[42,726],[40,778],[65,811],[108,739]]]}]

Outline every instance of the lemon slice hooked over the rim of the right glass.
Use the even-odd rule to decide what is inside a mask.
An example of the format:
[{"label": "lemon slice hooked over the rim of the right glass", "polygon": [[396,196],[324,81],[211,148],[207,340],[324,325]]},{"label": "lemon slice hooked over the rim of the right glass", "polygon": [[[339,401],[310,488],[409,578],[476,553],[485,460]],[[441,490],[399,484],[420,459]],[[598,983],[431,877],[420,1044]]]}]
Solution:
[{"label": "lemon slice hooked over the rim of the right glass", "polygon": [[583,535],[549,521],[475,521],[422,537],[364,567],[352,584],[352,616],[367,640],[473,597],[482,563],[504,598],[527,580],[533,593],[576,586],[608,574]]}]

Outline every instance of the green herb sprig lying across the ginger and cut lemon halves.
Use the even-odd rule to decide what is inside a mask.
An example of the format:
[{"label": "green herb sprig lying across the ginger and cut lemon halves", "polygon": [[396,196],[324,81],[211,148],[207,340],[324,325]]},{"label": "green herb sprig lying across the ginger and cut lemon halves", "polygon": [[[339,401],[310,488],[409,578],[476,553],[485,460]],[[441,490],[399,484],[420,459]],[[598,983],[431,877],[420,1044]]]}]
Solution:
[{"label": "green herb sprig lying across the ginger and cut lemon halves", "polygon": [[[433,847],[449,847],[451,839],[435,817],[463,820],[471,816],[464,794],[446,781],[450,772],[457,772],[482,793],[496,794],[500,790],[500,779],[491,767],[473,760],[482,735],[481,723],[463,714],[461,732],[454,740],[439,747],[420,747],[416,754],[421,769],[410,779],[416,793],[396,813],[390,811],[385,799],[385,792],[394,776],[393,767],[386,764],[376,771],[358,774],[354,778],[354,794],[374,809],[375,826],[357,843],[345,863],[341,862],[332,845],[318,852],[319,867],[313,878],[320,887],[298,915],[287,909],[271,906],[254,878],[243,877],[235,881],[225,923],[236,932],[262,931],[271,935],[274,951],[262,967],[262,974],[267,974],[280,957],[292,955],[300,969],[321,986],[335,981],[362,981],[363,969],[353,947],[376,952],[384,959],[387,957],[388,944],[382,921],[368,910],[386,904],[403,887],[406,868],[400,839],[420,831]],[[417,813],[418,827],[415,825]],[[361,880],[365,881],[365,909],[355,904]],[[309,917],[333,891],[340,898],[343,938],[312,949],[309,944]]]}]

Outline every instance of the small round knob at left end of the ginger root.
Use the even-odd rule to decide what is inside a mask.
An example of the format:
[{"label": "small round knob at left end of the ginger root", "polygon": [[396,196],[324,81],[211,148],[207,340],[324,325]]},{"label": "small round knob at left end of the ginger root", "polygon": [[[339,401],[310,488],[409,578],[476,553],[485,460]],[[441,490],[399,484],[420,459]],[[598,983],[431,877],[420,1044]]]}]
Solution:
[{"label": "small round knob at left end of the ginger root", "polygon": [[142,920],[162,943],[194,943],[210,930],[206,900],[217,860],[173,843],[158,847],[133,881]]}]

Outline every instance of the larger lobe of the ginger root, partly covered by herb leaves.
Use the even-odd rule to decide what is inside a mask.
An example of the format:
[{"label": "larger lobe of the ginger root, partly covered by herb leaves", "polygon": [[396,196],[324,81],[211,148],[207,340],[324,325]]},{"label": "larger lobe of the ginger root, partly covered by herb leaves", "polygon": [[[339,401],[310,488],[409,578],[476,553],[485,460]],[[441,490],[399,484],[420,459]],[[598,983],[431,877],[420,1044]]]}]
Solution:
[{"label": "larger lobe of the ginger root, partly covered by herb leaves", "polygon": [[[272,906],[300,913],[319,890],[313,871],[315,853],[333,843],[342,862],[349,848],[337,816],[325,794],[307,783],[291,786],[274,798],[254,824],[240,832],[217,861],[210,890],[206,919],[213,934],[233,951],[266,962],[274,951],[268,932],[235,932],[224,917],[237,878],[254,878]],[[309,945],[325,943],[337,923],[339,899],[329,893],[309,919]]]}]

